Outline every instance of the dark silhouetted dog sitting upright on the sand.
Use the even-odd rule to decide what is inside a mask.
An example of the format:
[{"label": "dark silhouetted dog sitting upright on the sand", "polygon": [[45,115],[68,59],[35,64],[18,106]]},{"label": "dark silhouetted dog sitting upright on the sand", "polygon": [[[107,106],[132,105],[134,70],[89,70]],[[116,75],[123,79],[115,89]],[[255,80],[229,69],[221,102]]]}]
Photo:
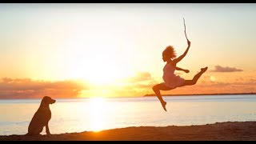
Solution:
[{"label": "dark silhouetted dog sitting upright on the sand", "polygon": [[48,122],[51,118],[51,112],[49,105],[54,102],[56,102],[56,100],[48,96],[42,98],[41,104],[30,122],[28,133],[26,135],[39,135],[42,132],[43,127],[46,126],[46,134],[47,136],[50,136]]}]

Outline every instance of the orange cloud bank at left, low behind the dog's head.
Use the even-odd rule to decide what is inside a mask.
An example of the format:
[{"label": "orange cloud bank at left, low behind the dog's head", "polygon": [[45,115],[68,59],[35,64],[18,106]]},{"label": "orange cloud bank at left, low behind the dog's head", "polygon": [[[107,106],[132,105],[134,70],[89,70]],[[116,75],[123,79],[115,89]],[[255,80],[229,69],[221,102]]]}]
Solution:
[{"label": "orange cloud bank at left, low behind the dog's head", "polygon": [[65,80],[58,82],[34,81],[30,78],[0,79],[0,98],[76,98],[89,89],[85,82]]}]

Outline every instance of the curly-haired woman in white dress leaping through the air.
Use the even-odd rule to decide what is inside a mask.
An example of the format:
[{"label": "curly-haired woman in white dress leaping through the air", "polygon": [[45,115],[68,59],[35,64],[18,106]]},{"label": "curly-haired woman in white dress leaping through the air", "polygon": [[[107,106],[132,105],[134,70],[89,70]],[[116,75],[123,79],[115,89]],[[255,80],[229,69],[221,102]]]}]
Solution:
[{"label": "curly-haired woman in white dress leaping through the air", "polygon": [[194,85],[198,82],[198,79],[201,77],[201,75],[208,69],[208,67],[202,68],[201,71],[198,74],[195,74],[194,78],[191,80],[185,80],[184,78],[181,78],[180,76],[174,74],[174,70],[182,70],[186,73],[190,72],[190,70],[184,70],[176,66],[177,63],[186,56],[186,53],[190,49],[190,41],[188,39],[187,44],[188,46],[186,48],[186,51],[178,58],[176,58],[176,53],[173,46],[167,46],[166,50],[162,52],[162,60],[163,62],[166,62],[166,66],[164,66],[163,68],[162,76],[164,82],[153,86],[152,89],[154,90],[154,93],[158,96],[158,99],[161,102],[164,110],[166,110],[166,102],[162,99],[160,90],[173,90],[176,87]]}]

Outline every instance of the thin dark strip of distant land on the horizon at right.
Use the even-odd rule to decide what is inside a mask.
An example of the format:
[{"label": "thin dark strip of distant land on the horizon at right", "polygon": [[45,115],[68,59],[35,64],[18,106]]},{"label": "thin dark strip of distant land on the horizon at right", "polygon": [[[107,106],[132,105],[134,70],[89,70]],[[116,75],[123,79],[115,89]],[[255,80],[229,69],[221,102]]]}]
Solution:
[{"label": "thin dark strip of distant land on the horizon at right", "polygon": [[[191,96],[191,95],[255,95],[256,93],[227,93],[227,94],[162,94],[162,96]],[[151,96],[156,96],[155,94],[146,94],[143,97],[151,97]]]}]

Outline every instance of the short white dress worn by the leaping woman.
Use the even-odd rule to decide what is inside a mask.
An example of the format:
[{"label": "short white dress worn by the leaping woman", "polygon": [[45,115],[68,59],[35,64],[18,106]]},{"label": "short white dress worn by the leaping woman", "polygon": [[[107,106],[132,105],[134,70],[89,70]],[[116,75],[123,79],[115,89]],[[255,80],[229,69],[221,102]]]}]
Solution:
[{"label": "short white dress worn by the leaping woman", "polygon": [[163,68],[163,84],[170,88],[175,88],[181,86],[185,80],[180,76],[174,74],[175,67],[166,63],[166,66]]}]

